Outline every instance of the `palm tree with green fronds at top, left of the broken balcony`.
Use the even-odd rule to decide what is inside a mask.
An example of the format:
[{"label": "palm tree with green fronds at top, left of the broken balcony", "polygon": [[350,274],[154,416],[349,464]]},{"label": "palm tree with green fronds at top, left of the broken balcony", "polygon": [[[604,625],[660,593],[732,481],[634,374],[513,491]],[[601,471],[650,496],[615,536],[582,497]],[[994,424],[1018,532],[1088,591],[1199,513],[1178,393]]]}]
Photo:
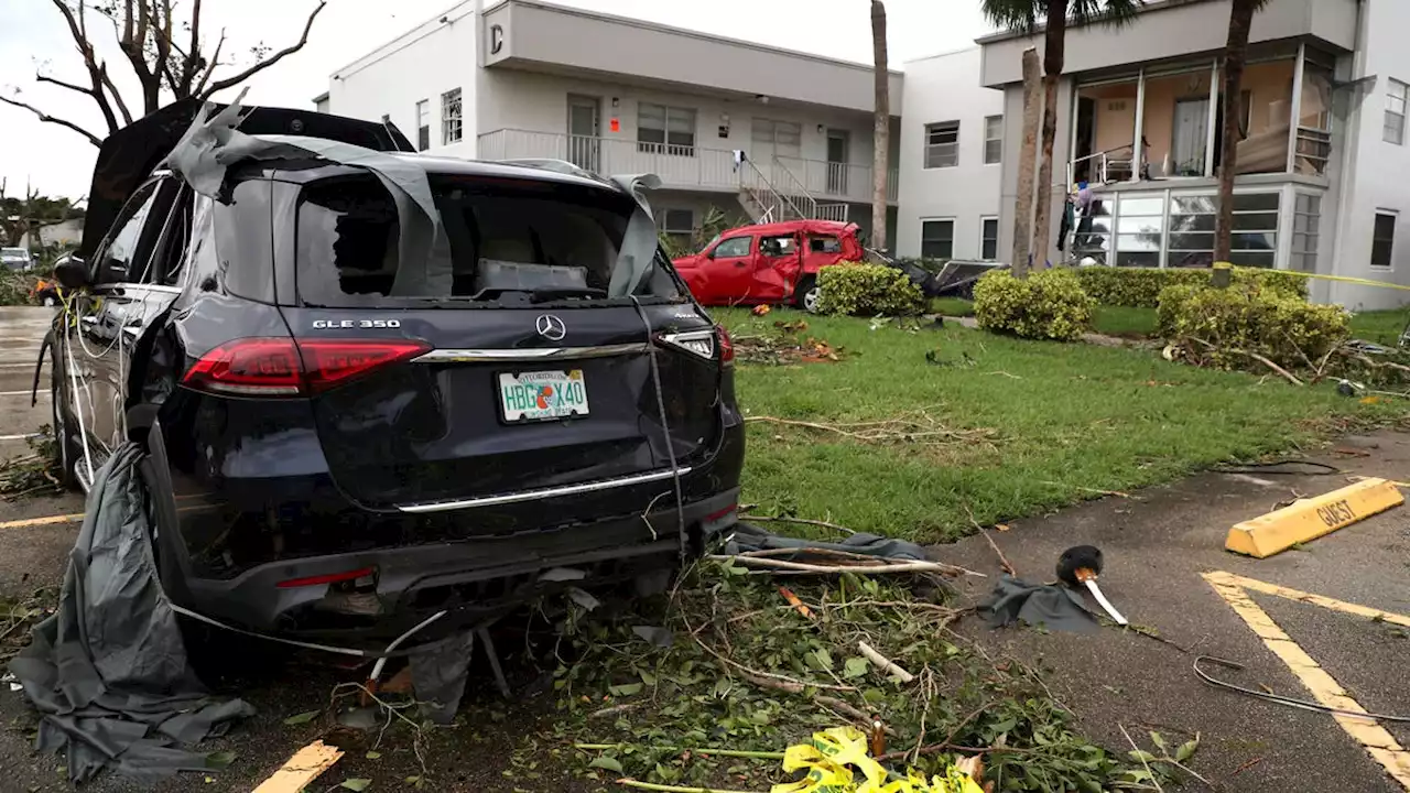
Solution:
[{"label": "palm tree with green fronds at top, left of the broken balcony", "polygon": [[[1032,31],[1043,18],[1043,130],[1042,159],[1038,168],[1038,212],[1034,220],[1032,255],[1048,258],[1048,233],[1052,230],[1053,141],[1058,138],[1058,80],[1062,78],[1063,40],[1067,20],[1079,25],[1131,21],[1145,0],[980,0],[980,10],[995,27]],[[1018,196],[1024,212],[1024,196]]]}]

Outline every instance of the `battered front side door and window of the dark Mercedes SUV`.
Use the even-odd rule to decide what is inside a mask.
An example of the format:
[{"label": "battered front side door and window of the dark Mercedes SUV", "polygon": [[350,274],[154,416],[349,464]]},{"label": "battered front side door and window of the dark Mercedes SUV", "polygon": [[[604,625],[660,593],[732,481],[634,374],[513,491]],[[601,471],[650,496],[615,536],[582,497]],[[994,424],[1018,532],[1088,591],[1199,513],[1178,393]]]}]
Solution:
[{"label": "battered front side door and window of the dark Mercedes SUV", "polygon": [[87,463],[79,464],[83,481],[92,481],[89,466],[97,470],[125,439],[128,357],[144,323],[171,302],[154,301],[144,279],[178,189],[164,176],[133,193],[97,248],[92,286],[72,303],[76,322],[65,323],[72,368],[66,391],[89,453]]}]

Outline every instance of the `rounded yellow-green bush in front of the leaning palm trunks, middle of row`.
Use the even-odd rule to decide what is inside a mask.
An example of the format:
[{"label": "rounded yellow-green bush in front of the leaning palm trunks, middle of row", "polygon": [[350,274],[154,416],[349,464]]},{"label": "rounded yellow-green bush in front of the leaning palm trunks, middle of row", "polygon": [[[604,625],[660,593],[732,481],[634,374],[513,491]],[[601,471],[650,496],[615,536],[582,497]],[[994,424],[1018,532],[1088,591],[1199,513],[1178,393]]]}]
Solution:
[{"label": "rounded yellow-green bush in front of the leaning palm trunks, middle of row", "polygon": [[1091,326],[1094,305],[1069,268],[1041,270],[1028,278],[998,270],[974,285],[980,327],[1021,339],[1076,340]]}]

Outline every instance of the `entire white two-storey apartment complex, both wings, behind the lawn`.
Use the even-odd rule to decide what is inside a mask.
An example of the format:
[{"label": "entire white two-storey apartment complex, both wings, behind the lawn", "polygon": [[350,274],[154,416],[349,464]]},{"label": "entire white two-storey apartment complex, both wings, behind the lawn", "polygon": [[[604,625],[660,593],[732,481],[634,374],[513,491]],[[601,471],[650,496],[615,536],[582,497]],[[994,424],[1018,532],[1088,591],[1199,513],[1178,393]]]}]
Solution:
[{"label": "entire white two-storey apartment complex, both wings, behind the lawn", "polygon": [[[558,158],[653,172],[657,222],[709,207],[870,226],[871,69],[539,0],[467,0],[338,69],[320,110],[395,123],[457,157]],[[1220,58],[1230,0],[1149,0],[1120,30],[1072,27],[1058,92],[1053,248],[1039,260],[1213,260]],[[1406,0],[1272,0],[1244,76],[1235,264],[1410,285]],[[900,255],[1007,261],[1021,148],[1021,55],[1001,32],[891,75]],[[904,110],[904,113],[902,113]],[[746,161],[737,161],[743,152]],[[1056,250],[1067,185],[1096,217]],[[1036,254],[1035,254],[1036,255]],[[1352,309],[1400,292],[1314,281]]]}]

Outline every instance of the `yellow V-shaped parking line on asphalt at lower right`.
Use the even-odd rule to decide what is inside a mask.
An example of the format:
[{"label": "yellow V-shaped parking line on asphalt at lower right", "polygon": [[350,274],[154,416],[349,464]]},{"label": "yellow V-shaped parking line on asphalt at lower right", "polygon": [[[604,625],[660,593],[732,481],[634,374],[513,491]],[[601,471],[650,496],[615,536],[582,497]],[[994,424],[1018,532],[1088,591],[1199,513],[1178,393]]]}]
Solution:
[{"label": "yellow V-shaped parking line on asphalt at lower right", "polygon": [[[1287,665],[1287,669],[1292,670],[1303,686],[1313,693],[1313,697],[1316,697],[1318,703],[1332,708],[1366,713],[1366,708],[1361,707],[1356,700],[1351,698],[1347,690],[1341,687],[1341,683],[1337,683],[1337,680],[1328,674],[1325,669],[1318,666],[1318,663],[1313,660],[1313,658],[1307,655],[1307,652],[1304,652],[1303,648],[1292,639],[1292,636],[1273,622],[1273,618],[1269,617],[1266,611],[1253,603],[1253,598],[1248,595],[1248,590],[1320,605],[1342,614],[1379,618],[1396,625],[1410,625],[1410,617],[1404,617],[1402,614],[1366,608],[1354,603],[1345,603],[1289,587],[1280,587],[1277,584],[1234,576],[1232,573],[1218,570],[1204,573],[1204,580],[1208,581],[1208,584],[1214,587],[1214,591],[1230,604],[1230,608],[1232,608],[1234,612],[1238,614],[1245,624],[1248,624],[1249,629],[1252,629],[1253,634],[1263,641],[1268,649],[1273,650],[1273,655]],[[1332,718],[1337,720],[1337,724],[1340,724],[1341,728],[1352,737],[1352,739],[1366,749],[1366,753],[1371,755],[1372,759],[1386,769],[1386,773],[1394,777],[1402,787],[1410,790],[1410,752],[1400,746],[1400,744],[1393,735],[1390,735],[1389,731],[1386,731],[1385,727],[1369,717],[1359,718],[1355,715],[1332,714]]]}]

